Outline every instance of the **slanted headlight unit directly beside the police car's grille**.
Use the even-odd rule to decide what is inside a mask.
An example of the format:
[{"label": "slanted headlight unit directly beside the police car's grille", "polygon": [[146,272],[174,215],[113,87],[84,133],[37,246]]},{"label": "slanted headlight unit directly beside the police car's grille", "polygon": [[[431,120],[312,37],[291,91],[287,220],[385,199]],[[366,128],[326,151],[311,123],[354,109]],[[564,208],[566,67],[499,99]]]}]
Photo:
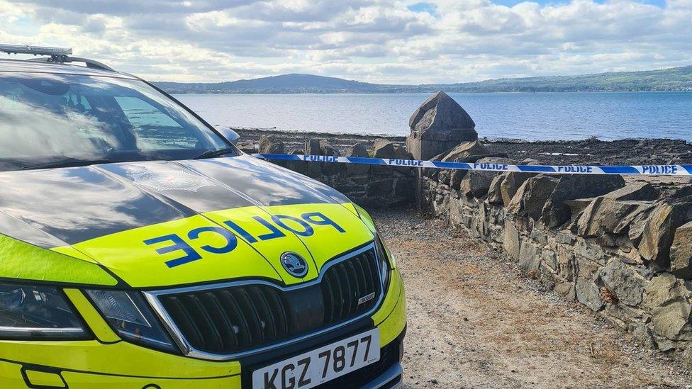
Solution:
[{"label": "slanted headlight unit directly beside the police car's grille", "polygon": [[153,349],[178,351],[139,292],[86,291],[123,339]]}]

